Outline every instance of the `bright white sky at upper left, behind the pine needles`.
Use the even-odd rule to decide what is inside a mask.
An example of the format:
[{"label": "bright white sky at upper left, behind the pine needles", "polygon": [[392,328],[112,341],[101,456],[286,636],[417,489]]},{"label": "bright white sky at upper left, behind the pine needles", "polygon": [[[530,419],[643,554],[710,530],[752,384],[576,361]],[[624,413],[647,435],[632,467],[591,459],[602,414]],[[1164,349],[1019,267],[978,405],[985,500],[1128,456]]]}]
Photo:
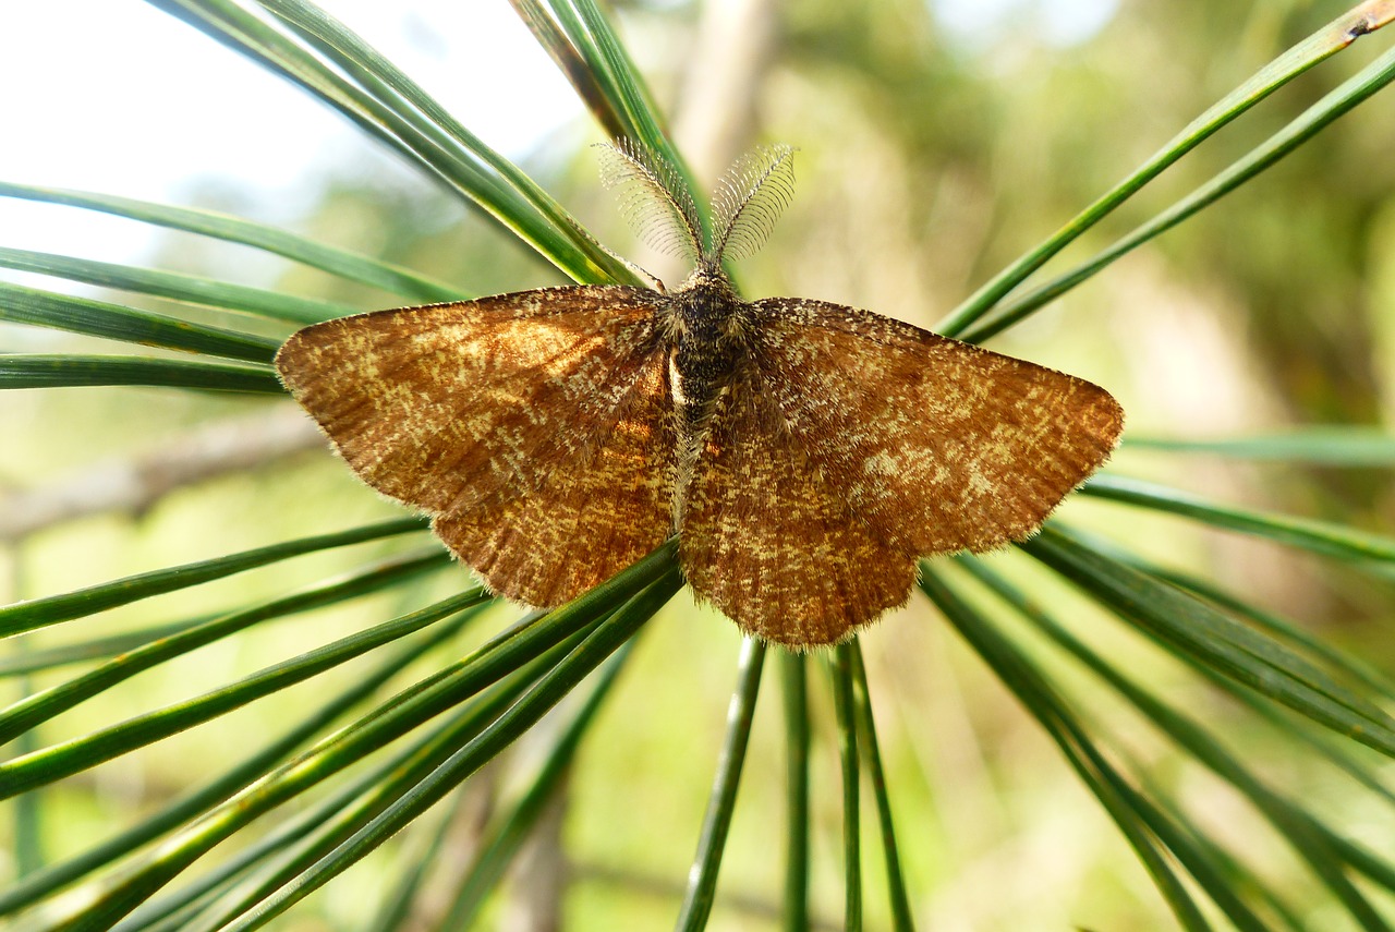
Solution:
[{"label": "bright white sky at upper left, behind the pine needles", "polygon": [[[583,117],[506,3],[321,6],[505,155]],[[0,87],[0,180],[21,184],[181,204],[195,184],[216,181],[266,202],[258,219],[276,222],[312,206],[326,166],[385,152],[310,95],[144,3],[6,4]],[[153,236],[88,211],[0,198],[0,246],[120,262]]]}]

